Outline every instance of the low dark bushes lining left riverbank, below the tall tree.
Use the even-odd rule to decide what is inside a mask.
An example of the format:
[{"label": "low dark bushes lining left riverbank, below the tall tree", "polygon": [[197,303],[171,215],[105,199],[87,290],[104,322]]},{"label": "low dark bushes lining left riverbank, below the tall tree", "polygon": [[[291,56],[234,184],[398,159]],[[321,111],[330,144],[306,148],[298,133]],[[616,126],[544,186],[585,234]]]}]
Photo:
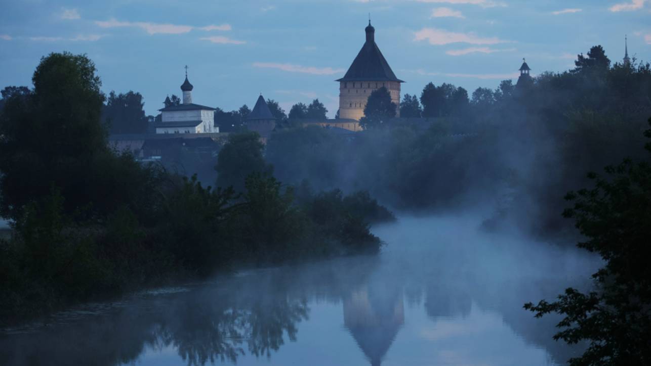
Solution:
[{"label": "low dark bushes lining left riverbank, below the tall tree", "polygon": [[243,266],[377,253],[369,224],[394,219],[366,193],[294,200],[273,177],[250,180],[240,199],[220,192],[186,179],[153,225],[126,209],[100,226],[70,222],[55,205],[26,215],[0,242],[0,324]]}]

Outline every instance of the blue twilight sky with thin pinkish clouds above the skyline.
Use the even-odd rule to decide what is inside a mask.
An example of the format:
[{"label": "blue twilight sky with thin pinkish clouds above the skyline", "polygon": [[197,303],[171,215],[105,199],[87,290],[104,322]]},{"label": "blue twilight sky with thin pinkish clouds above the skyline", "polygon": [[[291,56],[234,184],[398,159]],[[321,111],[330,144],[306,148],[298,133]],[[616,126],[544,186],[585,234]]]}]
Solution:
[{"label": "blue twilight sky with thin pinkish clouds above the skyline", "polygon": [[611,60],[651,59],[651,0],[0,0],[0,87],[30,85],[40,57],[87,53],[103,90],[143,94],[156,114],[180,95],[253,107],[260,92],[289,107],[319,98],[333,116],[342,77],[365,40],[376,42],[402,93],[429,81],[472,92],[516,77],[572,68],[601,44]]}]

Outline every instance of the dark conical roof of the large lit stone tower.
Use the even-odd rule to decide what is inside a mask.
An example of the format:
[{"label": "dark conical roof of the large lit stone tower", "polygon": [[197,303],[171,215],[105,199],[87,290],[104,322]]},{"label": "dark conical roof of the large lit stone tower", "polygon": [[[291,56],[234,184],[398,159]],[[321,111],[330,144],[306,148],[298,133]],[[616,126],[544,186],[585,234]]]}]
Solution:
[{"label": "dark conical roof of the large lit stone tower", "polygon": [[365,29],[367,41],[348,68],[346,75],[337,81],[404,81],[398,79],[375,43],[375,28],[368,22]]}]

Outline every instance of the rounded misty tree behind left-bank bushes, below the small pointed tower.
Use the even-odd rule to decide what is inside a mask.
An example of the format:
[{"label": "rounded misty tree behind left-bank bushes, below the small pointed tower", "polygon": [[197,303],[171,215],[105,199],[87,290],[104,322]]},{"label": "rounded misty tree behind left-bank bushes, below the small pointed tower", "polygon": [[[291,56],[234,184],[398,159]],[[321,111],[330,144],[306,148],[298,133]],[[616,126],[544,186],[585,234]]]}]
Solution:
[{"label": "rounded misty tree behind left-bank bushes, below the small pointed tower", "polygon": [[264,144],[260,135],[245,131],[229,136],[228,142],[217,156],[217,187],[232,186],[236,192],[244,189],[244,179],[254,172],[271,172],[271,166],[264,161]]}]

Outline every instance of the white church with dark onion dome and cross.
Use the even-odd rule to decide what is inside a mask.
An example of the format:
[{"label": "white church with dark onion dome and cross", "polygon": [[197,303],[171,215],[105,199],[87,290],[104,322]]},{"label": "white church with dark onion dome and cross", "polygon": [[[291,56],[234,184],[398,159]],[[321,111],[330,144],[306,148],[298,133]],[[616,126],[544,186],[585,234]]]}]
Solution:
[{"label": "white church with dark onion dome and cross", "polygon": [[165,107],[159,109],[161,122],[156,124],[156,133],[219,133],[215,126],[215,109],[192,103],[193,86],[187,81],[181,85],[183,103],[170,105],[169,97],[165,99]]}]

